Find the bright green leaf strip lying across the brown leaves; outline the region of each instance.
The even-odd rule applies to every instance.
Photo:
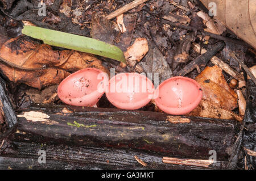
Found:
[[[43,40],[48,45],[97,54],[126,64],[122,50],[104,41],[35,26],[24,26],[22,33],[35,39]]]

